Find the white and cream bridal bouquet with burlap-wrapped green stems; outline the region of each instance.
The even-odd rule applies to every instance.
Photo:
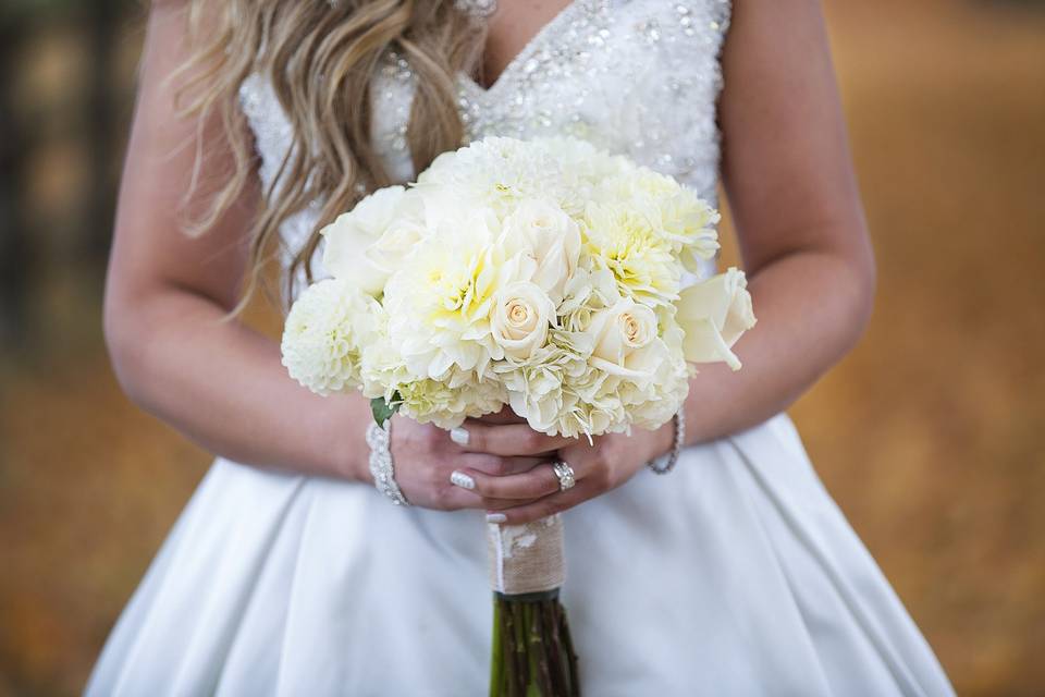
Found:
[[[487,138],[323,230],[332,278],[291,308],[283,364],[319,394],[361,391],[379,423],[448,429],[509,405],[553,436],[655,429],[691,364],[739,369],[732,345],[754,323],[742,272],[684,286],[717,221],[672,178],[583,142]],[[489,527],[491,694],[576,694],[561,519]]]

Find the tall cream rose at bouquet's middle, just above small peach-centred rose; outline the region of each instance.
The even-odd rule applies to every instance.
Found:
[[[524,200],[504,219],[502,244],[525,249],[537,261],[533,282],[553,303],[562,302],[580,257],[580,228],[573,218],[548,201]]]

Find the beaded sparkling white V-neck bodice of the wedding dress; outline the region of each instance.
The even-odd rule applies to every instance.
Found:
[[[467,137],[574,135],[714,199],[718,54],[729,9],[728,0],[574,0],[489,88],[458,76]],[[414,178],[406,144],[414,80],[407,61],[389,54],[373,91],[376,147],[403,181]],[[260,75],[244,82],[241,98],[268,187],[290,147],[291,126]],[[305,243],[317,210],[284,223],[287,248]]]

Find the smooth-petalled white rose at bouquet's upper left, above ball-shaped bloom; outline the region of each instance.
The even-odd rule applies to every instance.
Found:
[[[334,278],[370,295],[381,293],[390,271],[374,264],[366,250],[395,222],[406,193],[402,186],[379,188],[323,228],[323,267]],[[390,241],[385,247],[392,244]]]

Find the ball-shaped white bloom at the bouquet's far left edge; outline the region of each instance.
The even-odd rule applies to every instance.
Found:
[[[283,365],[317,394],[359,386],[360,354],[381,307],[355,285],[327,279],[310,285],[291,307],[283,329]]]

